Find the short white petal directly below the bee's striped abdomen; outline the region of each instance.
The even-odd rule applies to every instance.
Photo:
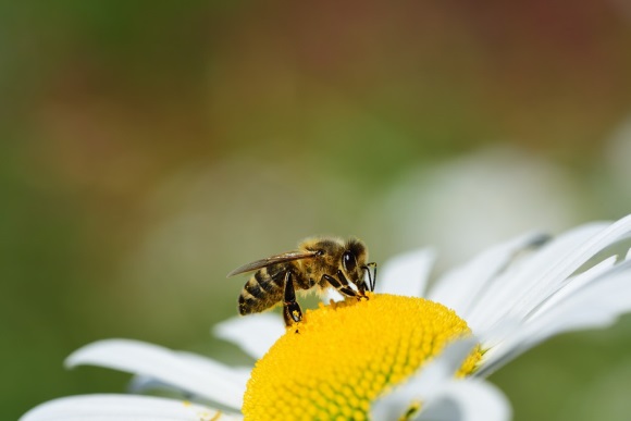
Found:
[[[285,334],[285,323],[276,314],[251,314],[221,322],[214,326],[213,333],[259,359]]]

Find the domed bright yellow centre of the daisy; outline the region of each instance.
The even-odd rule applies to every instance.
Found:
[[[320,305],[257,362],[245,419],[366,420],[376,397],[470,333],[453,310],[423,298],[369,294]],[[471,373],[481,357],[478,347],[458,374]]]

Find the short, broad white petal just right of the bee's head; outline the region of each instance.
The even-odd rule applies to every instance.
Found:
[[[379,268],[375,293],[421,297],[436,253],[419,249],[389,259]]]

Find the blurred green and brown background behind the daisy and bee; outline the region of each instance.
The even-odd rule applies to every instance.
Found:
[[[128,375],[131,337],[212,338],[225,273],[312,234],[436,274],[631,211],[624,0],[0,2],[0,419]],[[626,420],[631,318],[491,380],[516,420]]]

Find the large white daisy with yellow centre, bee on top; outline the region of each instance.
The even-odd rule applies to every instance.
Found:
[[[44,404],[22,421],[506,420],[510,408],[485,376],[550,336],[604,327],[631,310],[631,253],[618,255],[630,235],[631,216],[554,239],[524,235],[432,285],[432,251],[399,256],[380,269],[370,299],[332,299],[297,327],[285,331],[270,313],[218,325],[218,336],[258,359],[253,369],[138,342],[98,342],[66,364],[128,371],[139,376],[137,388],[158,382],[196,404],[89,395]]]

